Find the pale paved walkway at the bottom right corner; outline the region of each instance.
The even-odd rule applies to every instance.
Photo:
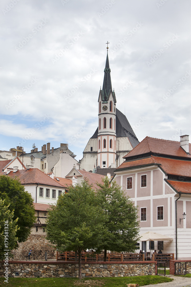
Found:
[[[191,287],[191,277],[168,276],[172,282],[147,285],[148,287]]]

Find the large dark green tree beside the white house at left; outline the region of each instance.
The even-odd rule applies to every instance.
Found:
[[[30,193],[25,191],[19,179],[8,175],[0,176],[0,198],[4,200],[9,210],[13,211],[13,220],[18,218],[16,237],[19,242],[27,240],[35,222],[35,210]]]

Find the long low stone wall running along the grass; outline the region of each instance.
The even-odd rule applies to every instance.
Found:
[[[88,262],[82,264],[82,277],[155,275],[155,265],[155,261]],[[78,277],[76,262],[9,261],[8,267],[9,277]],[[0,277],[4,276],[4,271],[4,261],[0,261]]]

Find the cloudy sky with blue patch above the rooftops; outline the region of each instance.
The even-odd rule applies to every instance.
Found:
[[[82,152],[98,125],[107,45],[137,138],[190,126],[190,0],[1,0],[0,150]]]

